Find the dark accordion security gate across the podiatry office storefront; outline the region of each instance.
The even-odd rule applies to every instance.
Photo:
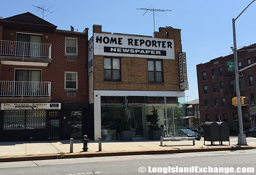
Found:
[[[0,141],[44,141],[60,139],[59,111],[4,110]],[[1,123],[1,122],[0,122]]]

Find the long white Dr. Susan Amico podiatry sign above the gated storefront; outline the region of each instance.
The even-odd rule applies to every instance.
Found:
[[[61,109],[61,103],[1,103],[1,110]]]

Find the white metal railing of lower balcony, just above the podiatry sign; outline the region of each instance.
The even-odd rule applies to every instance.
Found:
[[[51,82],[0,81],[0,97],[50,97]]]

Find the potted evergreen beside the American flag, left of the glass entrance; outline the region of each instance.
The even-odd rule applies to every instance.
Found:
[[[125,110],[120,110],[121,122],[119,123],[120,141],[132,141],[132,131],[125,118]]]

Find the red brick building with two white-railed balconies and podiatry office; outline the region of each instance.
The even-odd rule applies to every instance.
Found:
[[[29,12],[0,18],[0,141],[87,132],[88,28],[56,28]]]

